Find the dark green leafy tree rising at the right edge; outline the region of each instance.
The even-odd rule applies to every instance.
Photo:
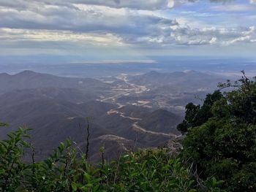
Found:
[[[204,110],[205,117],[198,116],[203,107],[195,112],[200,123],[187,118],[181,151],[181,158],[189,159],[200,177],[225,180],[227,191],[256,191],[256,82],[243,75],[235,83],[219,85],[234,89],[214,97]]]

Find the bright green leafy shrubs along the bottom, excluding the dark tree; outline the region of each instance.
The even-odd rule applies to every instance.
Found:
[[[198,183],[192,166],[165,148],[127,153],[110,163],[102,158],[102,164],[95,165],[67,139],[36,163],[34,147],[24,141],[26,132],[19,128],[0,142],[0,191],[222,191],[222,181],[214,177]],[[28,148],[32,162],[24,164]],[[104,157],[104,147],[100,152]]]

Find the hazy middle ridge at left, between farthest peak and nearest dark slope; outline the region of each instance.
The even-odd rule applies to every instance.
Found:
[[[48,120],[73,119],[97,117],[105,115],[108,110],[115,108],[115,104],[103,103],[100,101],[88,101],[83,104],[75,104],[69,101],[58,99],[38,98],[11,100],[10,102],[2,103],[0,97],[0,121],[9,122],[13,128],[17,128],[23,124],[39,128],[43,126],[38,120],[45,118],[45,123]],[[15,102],[12,102],[15,101]]]

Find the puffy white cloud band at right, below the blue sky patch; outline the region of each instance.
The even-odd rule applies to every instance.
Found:
[[[159,36],[138,37],[140,45],[219,45],[227,46],[238,42],[255,42],[255,27],[249,28],[191,28],[176,25],[168,33]],[[133,42],[133,43],[135,43]]]

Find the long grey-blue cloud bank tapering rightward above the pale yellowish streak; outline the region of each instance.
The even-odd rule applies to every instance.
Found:
[[[149,31],[157,34],[162,28],[175,25],[175,20],[145,15],[138,11],[77,4],[67,7],[41,6],[24,11],[0,8],[1,28],[27,28],[80,33],[143,36]]]

